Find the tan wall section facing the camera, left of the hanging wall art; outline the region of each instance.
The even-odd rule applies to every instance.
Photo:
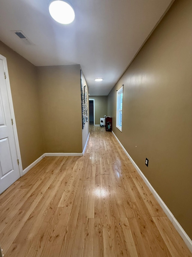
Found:
[[[38,67],[45,152],[82,152],[80,65]]]

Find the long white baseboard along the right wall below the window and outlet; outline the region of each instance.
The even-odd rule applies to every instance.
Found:
[[[158,201],[158,203],[161,205],[161,208],[164,210],[165,214],[167,215],[167,217],[170,219],[171,223],[173,224],[173,226],[176,228],[176,230],[178,231],[179,235],[182,237],[183,241],[186,243],[187,247],[189,248],[189,250],[192,252],[192,240],[189,238],[189,236],[187,235],[187,233],[184,231],[184,229],[182,228],[182,226],[179,224],[179,222],[176,220],[176,218],[174,217],[173,213],[170,211],[170,209],[167,207],[167,205],[164,203],[164,201],[161,199],[161,197],[158,195],[158,193],[155,191],[155,189],[152,187],[152,185],[149,183],[149,180],[145,177],[145,175],[143,174],[143,172],[140,170],[140,168],[137,166],[137,164],[134,162],[134,160],[131,158],[131,156],[128,154],[128,152],[125,150],[124,146],[122,145],[122,143],[119,141],[119,139],[117,138],[117,136],[115,135],[115,133],[112,131],[113,135],[115,136],[115,138],[117,139],[118,143],[120,144],[120,146],[122,147],[123,151],[125,152],[125,154],[128,156],[128,158],[130,159],[130,161],[132,162],[132,164],[134,165],[134,167],[136,168],[137,172],[140,174],[140,176],[142,177],[142,179],[144,180],[144,182],[146,183],[146,185],[149,187],[149,190],[152,192],[153,196],[155,197],[155,199]]]

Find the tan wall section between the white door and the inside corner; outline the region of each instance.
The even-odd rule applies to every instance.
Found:
[[[0,54],[7,58],[22,167],[25,169],[44,153],[37,68],[2,42]]]

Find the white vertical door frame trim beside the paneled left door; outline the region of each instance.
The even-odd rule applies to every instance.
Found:
[[[21,153],[20,153],[20,148],[19,148],[19,139],[18,139],[17,128],[16,128],[15,114],[14,114],[14,109],[13,109],[13,100],[12,100],[12,95],[11,95],[11,87],[10,87],[9,73],[8,73],[8,67],[7,67],[7,58],[4,57],[3,55],[0,55],[0,59],[3,61],[4,70],[5,70],[5,74],[6,74],[5,81],[6,81],[6,86],[7,86],[9,108],[10,108],[11,118],[13,120],[13,126],[12,126],[13,127],[13,136],[14,136],[14,140],[15,140],[16,155],[17,155],[17,159],[19,160],[19,174],[21,177],[23,175],[23,168],[22,168]]]

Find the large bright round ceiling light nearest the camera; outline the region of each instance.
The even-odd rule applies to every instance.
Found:
[[[53,20],[61,24],[70,24],[75,19],[73,8],[66,2],[55,0],[49,5],[49,13]]]

